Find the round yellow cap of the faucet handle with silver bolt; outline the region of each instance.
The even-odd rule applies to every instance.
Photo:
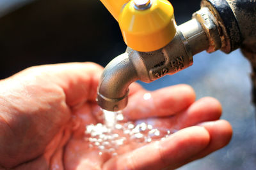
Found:
[[[131,0],[118,22],[126,45],[140,52],[163,48],[176,33],[173,7],[167,0]]]

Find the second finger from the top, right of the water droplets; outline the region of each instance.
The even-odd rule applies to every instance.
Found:
[[[212,97],[204,97],[195,103],[191,104],[187,110],[181,111],[174,117],[163,118],[146,118],[139,120],[146,122],[154,127],[164,128],[168,130],[177,131],[185,127],[199,124],[200,122],[207,122],[218,120],[221,117],[221,104]]]

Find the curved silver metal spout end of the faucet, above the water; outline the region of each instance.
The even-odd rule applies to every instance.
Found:
[[[104,110],[118,111],[128,101],[129,85],[138,80],[128,53],[118,55],[105,67],[99,81],[97,102]]]

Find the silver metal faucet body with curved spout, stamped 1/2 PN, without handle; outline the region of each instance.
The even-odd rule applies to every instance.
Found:
[[[128,87],[136,81],[151,82],[166,74],[174,74],[193,64],[193,55],[208,48],[202,26],[190,20],[179,27],[173,40],[154,52],[138,52],[127,48],[104,69],[98,88],[98,104],[104,110],[125,108]]]

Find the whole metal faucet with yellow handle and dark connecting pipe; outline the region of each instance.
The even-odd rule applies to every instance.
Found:
[[[167,0],[101,1],[118,20],[128,46],[109,62],[100,78],[97,102],[104,110],[124,109],[132,82],[150,83],[177,73],[191,66],[193,55],[204,50],[230,53],[241,48],[256,70],[255,0],[202,0],[200,10],[179,26]],[[152,28],[152,22],[163,27]],[[256,82],[256,76],[252,78]]]

